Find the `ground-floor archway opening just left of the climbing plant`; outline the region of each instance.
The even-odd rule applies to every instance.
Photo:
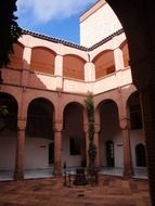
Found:
[[[86,139],[83,132],[82,106],[69,103],[64,110],[63,162],[68,167],[86,165]]]

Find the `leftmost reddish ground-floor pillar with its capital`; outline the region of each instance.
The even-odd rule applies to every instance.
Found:
[[[17,120],[17,138],[16,138],[16,158],[15,158],[15,170],[14,179],[24,179],[24,154],[25,154],[25,129],[26,120],[18,118]]]

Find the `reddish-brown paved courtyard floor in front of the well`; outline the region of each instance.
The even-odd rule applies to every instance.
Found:
[[[94,186],[64,186],[63,178],[3,181],[0,206],[151,206],[151,202],[147,180],[101,175]]]

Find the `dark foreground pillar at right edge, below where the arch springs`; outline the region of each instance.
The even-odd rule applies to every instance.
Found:
[[[155,81],[154,81],[155,82]],[[140,90],[152,204],[155,204],[155,86]]]

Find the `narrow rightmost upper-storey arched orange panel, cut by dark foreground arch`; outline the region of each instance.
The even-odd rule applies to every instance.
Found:
[[[120,44],[120,50],[122,51],[122,57],[124,57],[124,65],[125,68],[129,67],[129,49],[128,49],[128,42],[125,40]]]

